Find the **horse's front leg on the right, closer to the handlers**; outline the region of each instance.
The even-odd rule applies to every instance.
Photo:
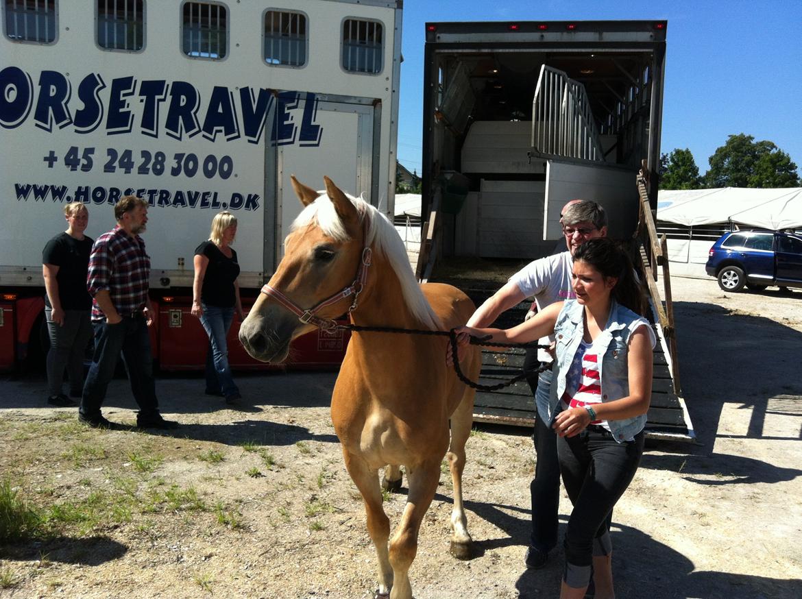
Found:
[[[435,496],[440,478],[440,459],[430,459],[416,467],[407,464],[409,494],[398,529],[390,542],[393,589],[390,599],[411,599],[409,569],[418,552],[418,532],[423,515]]]

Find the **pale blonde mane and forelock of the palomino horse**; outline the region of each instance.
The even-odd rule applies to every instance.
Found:
[[[320,194],[317,200],[314,200],[302,210],[290,230],[299,229],[315,222],[323,233],[334,238],[334,240],[341,243],[348,241],[350,237],[340,217],[334,210],[334,204],[331,203],[325,191],[320,192]],[[404,302],[406,302],[412,315],[423,326],[427,326],[431,330],[442,330],[442,322],[434,310],[431,310],[429,302],[423,296],[420,285],[415,279],[415,273],[412,272],[409,257],[407,257],[407,250],[403,246],[403,241],[401,241],[398,231],[395,230],[395,227],[382,212],[379,212],[377,208],[371,206],[362,198],[350,196],[347,193],[346,197],[357,209],[359,221],[364,223],[365,219],[368,219],[366,243],[371,245],[374,251],[381,253],[390,261],[391,269],[399,277]],[[370,276],[370,273],[368,273],[368,277]]]

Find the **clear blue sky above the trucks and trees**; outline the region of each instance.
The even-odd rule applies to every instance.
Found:
[[[427,21],[652,18],[668,19],[661,152],[688,148],[703,173],[727,136],[746,133],[802,172],[802,0],[406,0],[399,160],[421,173]]]

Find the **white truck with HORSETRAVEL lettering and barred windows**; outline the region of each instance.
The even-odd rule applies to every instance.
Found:
[[[6,0],[0,34],[0,369],[47,347],[42,249],[87,205],[150,204],[144,240],[168,370],[200,369],[192,256],[215,213],[237,217],[245,309],[273,273],[301,204],[290,175],[391,215],[400,0]],[[234,342],[233,366],[259,367]],[[347,336],[298,339],[294,366],[342,361]]]

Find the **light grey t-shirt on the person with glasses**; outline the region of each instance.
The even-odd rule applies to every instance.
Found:
[[[563,302],[574,299],[571,274],[573,273],[573,258],[568,251],[546,256],[540,260],[529,262],[524,268],[509,277],[525,297],[535,297],[537,310],[543,310],[554,302]],[[549,345],[554,341],[554,335],[541,338],[540,345]],[[541,362],[551,362],[552,356],[545,350],[537,350],[537,359]]]

